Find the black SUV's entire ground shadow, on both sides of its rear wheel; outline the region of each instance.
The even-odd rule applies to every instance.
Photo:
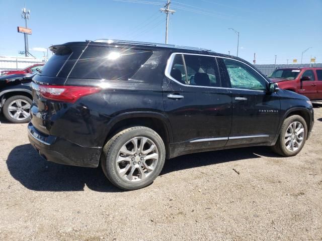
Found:
[[[241,148],[190,154],[167,160],[160,175],[170,172],[261,156],[279,157],[266,147]],[[122,192],[105,177],[101,168],[60,165],[45,161],[30,144],[15,147],[7,159],[10,174],[23,186],[35,191]]]

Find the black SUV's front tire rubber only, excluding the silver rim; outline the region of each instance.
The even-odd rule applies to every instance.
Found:
[[[286,134],[286,130],[287,128],[289,127],[289,125],[293,122],[299,122],[302,124],[302,126],[304,127],[304,138],[303,138],[303,143],[302,145],[300,146],[300,148],[298,148],[296,151],[294,152],[290,152],[289,150],[287,150],[287,148],[285,147],[285,143],[284,143],[284,140],[285,140],[285,134]],[[283,127],[281,129],[281,134],[280,134],[280,137],[279,137],[279,148],[283,154],[283,156],[286,156],[286,157],[291,157],[291,156],[295,156],[297,155],[301,150],[302,148],[304,147],[304,144],[306,142],[306,139],[307,139],[307,125],[306,125],[306,122],[305,120],[303,119],[303,117],[299,116],[299,115],[292,115],[288,118],[285,119],[284,121],[284,124],[283,124]]]

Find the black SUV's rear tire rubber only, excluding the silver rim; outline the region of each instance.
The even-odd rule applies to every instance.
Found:
[[[158,163],[153,173],[146,179],[138,182],[130,182],[122,179],[117,171],[116,158],[121,147],[129,140],[135,137],[147,137],[151,139],[158,150]],[[132,127],[116,134],[104,147],[104,161],[102,162],[102,168],[107,178],[117,187],[125,190],[140,189],[150,185],[153,180],[162,171],[165,163],[166,150],[164,143],[160,136],[153,130],[146,127]]]

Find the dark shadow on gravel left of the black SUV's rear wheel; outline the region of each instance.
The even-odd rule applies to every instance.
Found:
[[[85,186],[98,192],[121,191],[106,179],[101,168],[48,162],[30,144],[15,147],[7,167],[16,180],[35,191],[84,191]]]

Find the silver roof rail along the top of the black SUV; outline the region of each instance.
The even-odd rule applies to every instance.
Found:
[[[114,39],[97,39],[94,42],[107,43],[107,44],[133,44],[133,45],[143,45],[143,46],[153,46],[153,47],[163,47],[163,48],[176,48],[176,49],[187,49],[187,50],[198,50],[198,51],[211,51],[210,49],[202,49],[196,47],[179,46],[171,44],[159,44],[150,42],[139,42],[139,41],[129,41],[129,40],[114,40]]]

